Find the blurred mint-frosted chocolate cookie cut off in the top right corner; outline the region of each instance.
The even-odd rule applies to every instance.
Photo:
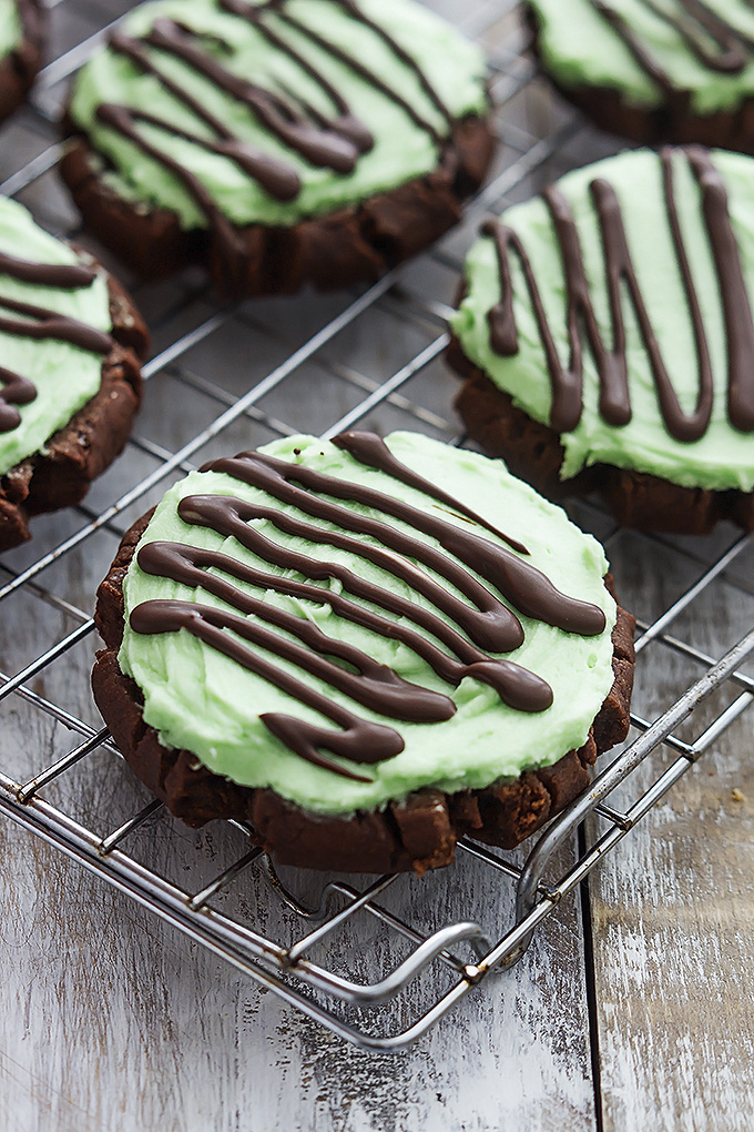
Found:
[[[528,0],[526,11],[544,70],[603,129],[754,153],[747,0]]]

